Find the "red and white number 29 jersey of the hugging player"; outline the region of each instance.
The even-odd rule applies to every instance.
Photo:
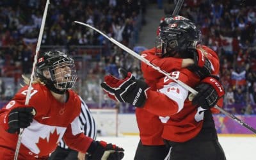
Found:
[[[199,83],[198,76],[188,69],[171,72],[171,75],[191,87]],[[177,142],[195,137],[203,121],[202,119],[201,122],[195,120],[197,108],[186,100],[188,90],[167,77],[159,79],[156,85],[157,91],[147,92],[148,99],[144,109],[160,116],[159,119],[164,126],[161,137]]]

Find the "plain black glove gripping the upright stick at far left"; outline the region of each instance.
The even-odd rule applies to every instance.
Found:
[[[14,108],[8,114],[9,129],[7,132],[19,132],[20,128],[28,127],[33,121],[35,109],[33,107]]]

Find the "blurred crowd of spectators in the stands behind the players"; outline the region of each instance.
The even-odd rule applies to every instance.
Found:
[[[140,52],[143,47],[136,44],[147,24],[147,6],[156,4],[159,9],[170,12],[170,8],[164,8],[161,3],[153,0],[51,0],[40,52],[61,50],[74,57],[79,76],[75,90],[91,108],[112,107],[120,109],[120,113],[132,113],[134,109],[128,104],[109,100],[99,84],[106,74],[118,76],[119,67],[142,78],[140,61],[74,21],[90,24]],[[21,75],[31,74],[44,7],[43,0],[0,2],[1,106],[19,90]],[[203,44],[220,57],[220,77],[227,92],[225,109],[232,114],[255,114],[256,2],[186,0],[180,15],[200,27]],[[152,26],[153,32],[157,25]]]

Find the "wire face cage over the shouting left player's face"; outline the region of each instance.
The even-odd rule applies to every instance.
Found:
[[[52,83],[59,90],[73,88],[76,83],[77,74],[73,60],[63,61],[61,63],[56,62],[56,65],[52,65],[49,68],[49,72],[51,73]]]

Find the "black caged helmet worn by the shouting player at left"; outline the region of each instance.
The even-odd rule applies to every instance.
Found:
[[[44,76],[45,70],[49,71],[50,78]],[[39,54],[35,74],[56,93],[64,93],[65,90],[72,88],[77,79],[74,60],[60,51]]]

